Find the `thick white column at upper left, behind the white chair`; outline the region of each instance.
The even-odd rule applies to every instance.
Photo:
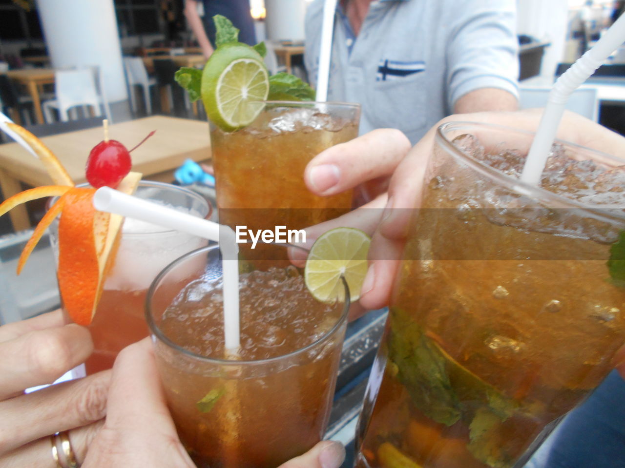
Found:
[[[109,102],[128,100],[113,0],[37,0],[52,66],[100,67]]]

